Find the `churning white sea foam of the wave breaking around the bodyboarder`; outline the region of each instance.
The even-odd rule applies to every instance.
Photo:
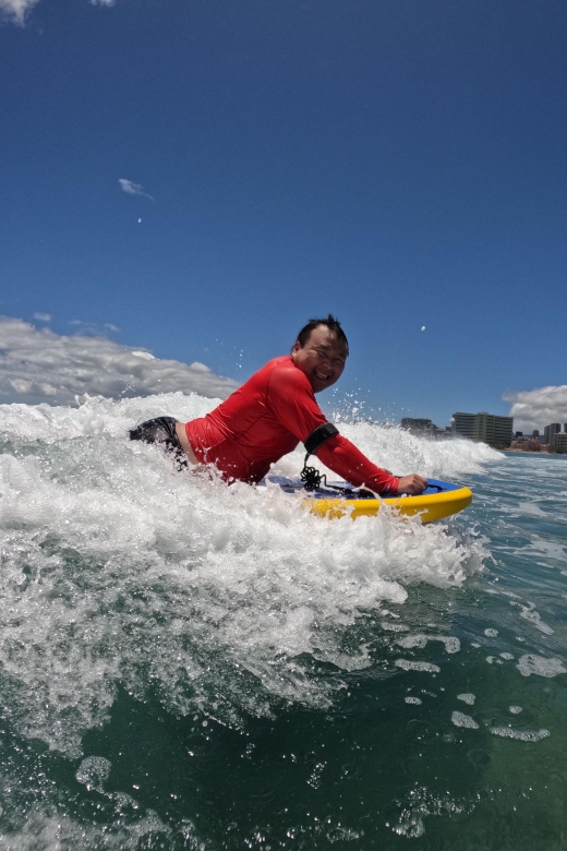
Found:
[[[0,406],[0,666],[22,733],[81,755],[118,684],[227,723],[270,715],[275,700],[325,706],[340,683],[312,675],[305,657],[369,664],[349,643],[361,614],[402,604],[414,583],[459,586],[481,567],[481,544],[443,525],[386,513],[324,520],[276,488],[176,474],[157,447],[125,438],[149,417],[185,420],[213,405],[171,394]],[[450,478],[490,457],[427,444],[431,464],[417,467],[419,442],[406,433],[367,423],[349,433],[400,471]],[[301,464],[298,452],[280,469]]]

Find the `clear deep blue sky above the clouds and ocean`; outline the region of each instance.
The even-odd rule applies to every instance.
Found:
[[[442,425],[566,382],[564,0],[0,8],[3,315],[241,381],[331,311]]]

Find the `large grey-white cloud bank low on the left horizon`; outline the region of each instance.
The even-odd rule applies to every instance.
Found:
[[[106,337],[65,337],[0,316],[0,401],[4,404],[67,404],[84,394],[133,397],[176,391],[226,398],[237,387],[236,381],[215,375],[204,363],[160,360]]]

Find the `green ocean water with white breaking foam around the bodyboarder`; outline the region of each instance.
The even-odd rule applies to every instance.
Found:
[[[213,405],[0,406],[0,849],[566,849],[567,457],[341,422],[474,501],[330,522],[125,439]]]

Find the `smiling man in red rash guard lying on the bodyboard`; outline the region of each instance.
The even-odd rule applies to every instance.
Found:
[[[342,375],[349,344],[330,313],[300,331],[291,355],[275,358],[254,373],[215,410],[190,422],[172,417],[148,420],[131,440],[162,443],[178,464],[213,464],[230,482],[258,482],[270,465],[304,443],[341,479],[382,494],[421,493],[426,479],[398,478],[376,467],[327,422],[315,393]]]

